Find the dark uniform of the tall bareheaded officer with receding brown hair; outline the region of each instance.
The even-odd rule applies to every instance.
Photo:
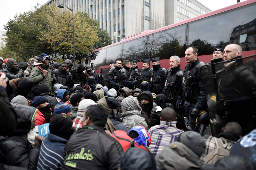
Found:
[[[185,112],[188,118],[188,125],[193,127],[191,112],[200,113],[206,107],[206,101],[203,91],[203,84],[200,77],[200,68],[206,65],[197,58],[192,65],[187,64],[182,76],[182,92],[180,93],[176,104],[180,105],[185,100]]]

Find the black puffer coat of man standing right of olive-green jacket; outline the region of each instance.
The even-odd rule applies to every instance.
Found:
[[[52,74],[56,75],[58,84],[62,84],[63,86],[67,86],[67,84],[72,83],[71,73],[64,72],[61,67],[59,69],[53,70]]]

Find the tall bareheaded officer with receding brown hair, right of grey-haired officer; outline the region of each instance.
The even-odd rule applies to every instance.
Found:
[[[185,112],[188,118],[186,131],[191,131],[193,120],[199,115],[200,111],[206,107],[203,84],[200,78],[200,68],[206,65],[198,59],[198,49],[194,46],[187,48],[185,60],[185,72],[182,77],[182,93],[176,102],[176,108],[180,109],[182,100],[185,100]]]

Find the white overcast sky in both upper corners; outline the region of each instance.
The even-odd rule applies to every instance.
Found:
[[[170,0],[169,0],[170,1]],[[217,10],[237,3],[237,0],[197,0],[211,10]],[[245,1],[245,0],[241,0]],[[7,21],[14,19],[16,13],[29,11],[36,3],[44,4],[47,0],[4,0],[0,7],[0,31],[5,31],[3,26]]]

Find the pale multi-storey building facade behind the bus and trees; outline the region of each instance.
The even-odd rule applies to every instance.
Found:
[[[99,27],[109,33],[112,43],[211,11],[196,0],[48,0],[45,3],[51,4],[86,12],[99,21]]]

